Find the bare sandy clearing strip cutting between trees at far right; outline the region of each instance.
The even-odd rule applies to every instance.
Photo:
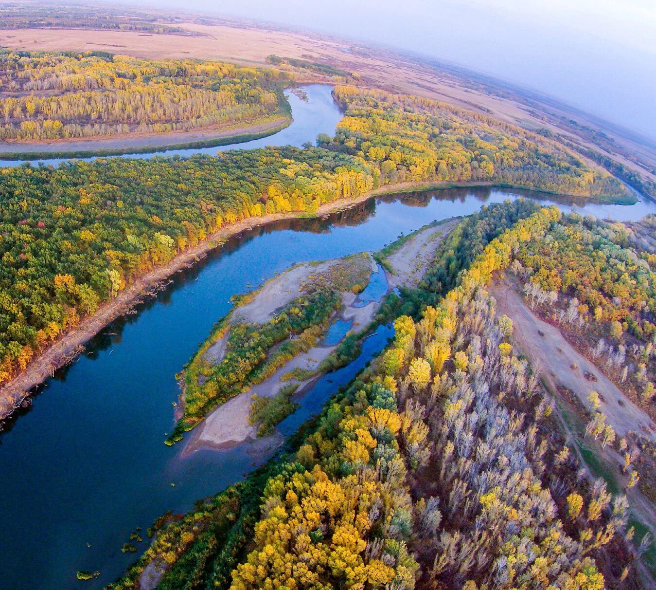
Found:
[[[630,430],[637,430],[651,440],[656,440],[656,426],[649,417],[602,371],[588,359],[581,356],[565,340],[556,327],[538,319],[515,292],[508,279],[501,284],[491,284],[490,294],[497,300],[497,313],[505,313],[514,323],[514,341],[531,358],[552,390],[562,385],[571,390],[579,401],[588,406],[588,395],[598,392],[602,398],[602,411],[615,432],[626,436]],[[572,369],[572,365],[578,365]],[[592,374],[596,381],[586,379],[584,373]]]

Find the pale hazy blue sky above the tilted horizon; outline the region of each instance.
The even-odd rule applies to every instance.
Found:
[[[656,0],[151,0],[377,41],[517,81],[656,139]]]

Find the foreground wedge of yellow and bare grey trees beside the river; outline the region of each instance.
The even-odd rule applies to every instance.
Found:
[[[494,227],[504,214],[518,221]],[[438,302],[397,317],[388,348],[283,460],[158,520],[110,588],[138,587],[151,562],[163,589],[636,587],[626,497],[571,452],[485,290],[561,222],[522,202],[462,221],[460,235],[497,236],[480,233],[471,263],[455,256],[462,238],[441,246],[436,266],[451,258],[453,286],[420,286]]]

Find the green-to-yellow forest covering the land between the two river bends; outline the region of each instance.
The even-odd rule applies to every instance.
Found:
[[[606,173],[522,129],[417,97],[335,93],[346,116],[319,147],[3,168],[0,384],[137,277],[248,217],[316,214],[338,199],[441,181],[628,198]]]

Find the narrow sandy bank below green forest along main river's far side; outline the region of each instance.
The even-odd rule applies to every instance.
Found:
[[[326,217],[330,214],[346,210],[365,202],[371,198],[384,196],[386,194],[396,193],[411,193],[414,191],[438,191],[453,188],[475,188],[475,187],[499,187],[499,188],[514,188],[533,191],[526,187],[509,187],[508,185],[500,183],[436,183],[427,181],[425,183],[400,183],[398,185],[384,185],[373,191],[369,191],[361,196],[340,199],[331,203],[325,203],[319,207],[316,214],[311,217]],[[544,191],[533,191],[543,192]],[[545,193],[550,194],[550,193]],[[561,194],[561,193],[558,193]],[[574,196],[576,195],[562,195]],[[585,198],[585,197],[580,197]],[[259,225],[268,225],[275,221],[282,221],[285,219],[302,219],[308,217],[303,212],[287,212],[276,213],[268,216],[249,217],[236,223],[220,229],[216,233],[207,237],[206,240],[180,252],[174,258],[156,269],[142,275],[127,286],[124,290],[112,300],[105,302],[98,310],[91,316],[84,317],[82,321],[72,330],[63,334],[58,340],[52,342],[50,346],[45,348],[43,352],[35,357],[25,371],[14,376],[7,384],[0,387],[0,432],[1,422],[9,419],[11,415],[19,409],[24,403],[31,403],[31,390],[36,386],[42,384],[49,376],[51,376],[56,369],[60,369],[70,363],[75,356],[73,355],[80,346],[83,346],[93,336],[95,336],[106,325],[115,319],[125,315],[133,307],[140,303],[144,296],[147,296],[150,291],[157,288],[163,281],[166,281],[174,273],[185,269],[195,262],[201,260],[207,252],[214,250],[220,246],[222,240],[233,237],[243,231],[249,231],[253,227]]]

